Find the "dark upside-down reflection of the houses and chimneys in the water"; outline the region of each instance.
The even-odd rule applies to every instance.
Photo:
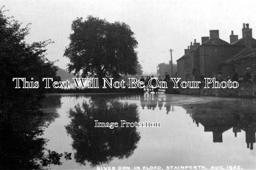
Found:
[[[251,103],[228,104],[217,102],[202,105],[191,105],[183,107],[193,119],[193,123],[204,126],[205,132],[213,133],[213,142],[222,142],[222,134],[231,129],[234,136],[243,130],[247,148],[253,149],[256,143],[256,106]]]

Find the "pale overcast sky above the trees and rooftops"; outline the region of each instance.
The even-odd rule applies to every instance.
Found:
[[[76,17],[93,15],[108,22],[130,25],[138,41],[138,59],[145,72],[156,72],[159,63],[183,56],[190,42],[201,43],[209,30],[219,30],[229,42],[231,30],[242,36],[243,23],[256,31],[256,0],[0,0],[9,16],[30,25],[26,42],[51,39],[49,60],[66,68],[63,57],[69,44],[71,23]],[[256,37],[256,36],[255,36]]]

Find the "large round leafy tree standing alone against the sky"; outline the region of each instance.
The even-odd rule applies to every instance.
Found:
[[[70,59],[69,72],[99,78],[136,74],[138,43],[129,25],[88,16],[74,20],[72,31],[64,53]]]

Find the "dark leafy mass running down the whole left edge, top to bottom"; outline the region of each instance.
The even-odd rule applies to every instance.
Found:
[[[57,115],[39,110],[46,92],[43,86],[15,89],[12,78],[59,79],[58,68],[45,57],[51,41],[26,44],[28,25],[21,28],[4,12],[0,8],[0,169],[40,169],[37,160],[42,159],[47,139],[38,136]]]

